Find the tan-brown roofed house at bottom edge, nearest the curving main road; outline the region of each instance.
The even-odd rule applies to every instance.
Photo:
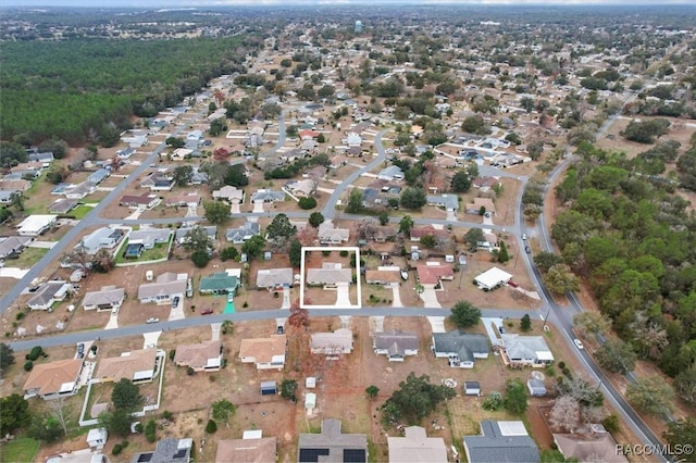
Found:
[[[589,424],[573,434],[554,434],[554,443],[567,459],[581,463],[625,463],[629,460],[617,452],[617,441],[600,424]]]

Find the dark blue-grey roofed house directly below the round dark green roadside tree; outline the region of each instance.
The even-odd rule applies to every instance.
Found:
[[[487,359],[490,348],[484,335],[455,329],[433,333],[433,352],[436,359],[448,359],[449,366],[473,368],[476,359]]]

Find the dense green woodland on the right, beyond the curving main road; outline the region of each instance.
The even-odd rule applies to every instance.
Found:
[[[672,377],[693,372],[696,216],[688,201],[673,182],[642,174],[641,159],[589,143],[577,154],[556,189],[568,207],[552,226],[564,263],[591,283],[600,310],[641,358]],[[696,136],[684,157],[694,154]]]

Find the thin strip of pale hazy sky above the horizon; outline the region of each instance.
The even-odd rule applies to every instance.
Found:
[[[187,8],[328,4],[694,4],[693,0],[0,0],[2,7]]]

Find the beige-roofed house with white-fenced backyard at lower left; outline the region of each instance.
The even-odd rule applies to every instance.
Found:
[[[101,359],[94,377],[101,383],[119,383],[123,378],[133,383],[148,383],[154,379],[157,363],[157,349],[123,352],[120,356]]]

